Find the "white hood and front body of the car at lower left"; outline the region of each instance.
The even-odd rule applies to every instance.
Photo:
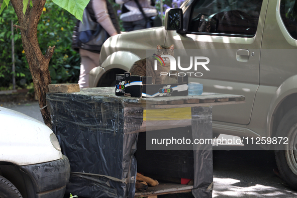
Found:
[[[40,121],[0,107],[0,161],[29,165],[61,159],[50,142],[52,133]]]

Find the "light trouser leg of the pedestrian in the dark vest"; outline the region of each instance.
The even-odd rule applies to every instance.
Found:
[[[100,54],[93,53],[87,50],[80,49],[80,74],[78,84],[80,88],[89,87],[89,73],[90,71],[99,66]]]

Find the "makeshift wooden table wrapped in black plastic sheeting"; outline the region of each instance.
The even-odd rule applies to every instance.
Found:
[[[114,87],[47,93],[46,99],[52,129],[70,162],[66,194],[78,197],[134,197],[134,153],[139,132],[191,126],[193,138],[212,138],[212,106],[245,102],[241,95],[217,93],[163,98],[116,96]],[[155,119],[149,124],[148,110],[171,108],[190,108],[191,115],[180,122]],[[211,147],[193,147],[195,197],[212,197]]]

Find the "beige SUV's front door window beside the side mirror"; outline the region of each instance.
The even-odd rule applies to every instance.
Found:
[[[198,0],[191,9],[188,33],[252,37],[262,0]]]

